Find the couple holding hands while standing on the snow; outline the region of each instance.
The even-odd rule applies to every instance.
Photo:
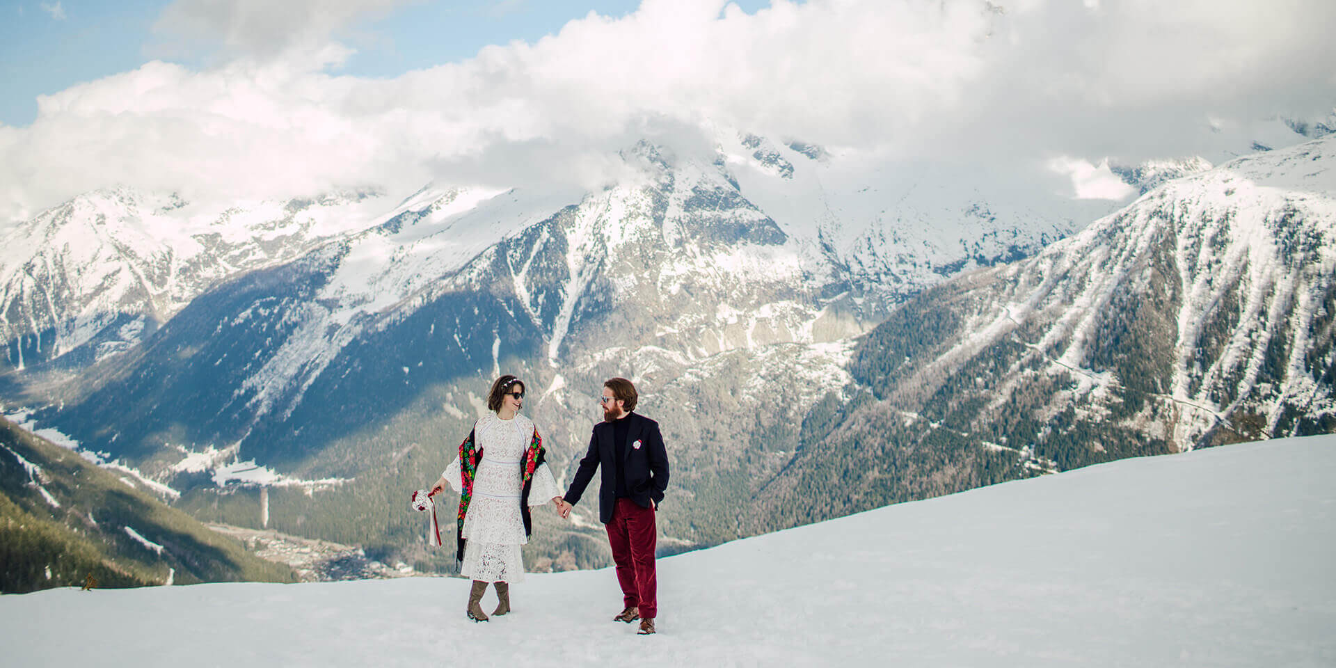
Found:
[[[488,621],[480,605],[488,582],[496,585],[493,616],[510,612],[510,582],[524,580],[520,545],[529,542],[529,508],[556,505],[561,517],[580,502],[596,469],[603,468],[599,518],[608,530],[623,611],[615,621],[640,620],[640,633],[655,632],[655,512],[668,486],[668,453],[659,424],[635,413],[636,386],[625,378],[603,383],[603,422],[595,425],[570,489],[561,494],[545,462],[546,450],[533,421],[521,415],[525,385],[514,375],[492,383],[488,409],[460,444],[460,456],[432,486],[460,494],[456,522],[460,573],[473,578],[468,615]]]

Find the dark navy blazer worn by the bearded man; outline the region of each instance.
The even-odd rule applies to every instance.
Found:
[[[576,505],[584,490],[593,480],[593,470],[603,465],[603,478],[599,485],[599,520],[603,524],[612,521],[612,509],[616,506],[615,494],[617,492],[617,454],[613,448],[621,448],[623,474],[625,477],[627,493],[640,508],[651,508],[664,500],[664,490],[668,489],[668,450],[664,449],[664,437],[659,433],[659,422],[639,413],[631,413],[621,420],[631,421],[627,425],[627,442],[615,444],[612,422],[599,422],[589,436],[589,452],[580,460],[580,469],[570,481],[565,500]]]

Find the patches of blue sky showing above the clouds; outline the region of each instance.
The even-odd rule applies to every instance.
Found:
[[[152,31],[168,0],[4,3],[0,9],[0,123],[28,126],[37,95],[126,72],[162,59],[202,65],[208,52],[182,53]],[[362,21],[341,37],[357,49],[338,72],[395,76],[472,57],[488,44],[536,41],[591,11],[633,12],[640,0],[482,0],[417,3]],[[768,0],[735,0],[748,13]],[[59,8],[59,9],[57,9]]]

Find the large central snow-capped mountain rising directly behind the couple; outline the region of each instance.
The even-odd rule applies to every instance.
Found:
[[[1113,202],[1041,196],[985,170],[896,164],[736,132],[704,152],[640,143],[620,158],[629,176],[592,192],[428,186],[290,262],[215,283],[110,363],[17,399],[45,403],[32,413],[40,426],[183,490],[180,505],[198,517],[246,524],[236,516],[253,501],[230,488],[208,492],[238,469],[262,470],[253,484],[335,481],[337,492],[299,485],[267,497],[271,525],[383,549],[417,528],[367,509],[434,477],[484,410],[490,378],[506,371],[529,383],[525,410],[558,477],[597,420],[601,382],[636,381],[641,411],[661,421],[681,472],[675,486],[692,501],[689,512],[669,504],[660,516],[664,542],[679,546],[1174,449],[1168,437],[1110,440],[1094,458],[1066,458],[1030,442],[1054,414],[1029,405],[990,428],[985,445],[961,415],[1006,411],[943,394],[966,382],[943,385],[950,374],[937,369],[946,367],[903,378],[899,394],[887,389],[900,382],[887,361],[929,365],[947,351],[933,345],[975,326],[929,306],[962,294],[991,303],[995,295],[971,286],[1003,274],[925,289],[1034,255]],[[1141,166],[1134,182],[1162,184],[1137,206],[1200,199],[1206,175],[1233,168],[1165,182],[1205,167]],[[1117,227],[1109,220],[1097,228]],[[1067,251],[1071,262],[1121,253],[1110,250],[1121,238],[1090,234]],[[1014,266],[1035,266],[1026,262]],[[1101,303],[1100,313],[1140,313],[1133,302]],[[887,315],[882,334],[859,342]],[[888,327],[902,327],[903,341],[886,345]],[[886,407],[906,393],[912,402]],[[1073,411],[1100,397],[1063,395],[1074,397]],[[919,422],[946,409],[965,413],[949,429],[939,418]],[[1062,438],[1074,438],[1062,425]],[[875,461],[886,448],[903,450],[900,464]],[[852,458],[823,457],[831,452]],[[816,492],[846,477],[858,489],[812,514]],[[811,502],[788,502],[795,496]],[[596,533],[553,529],[536,549],[603,564],[603,548],[588,541]]]

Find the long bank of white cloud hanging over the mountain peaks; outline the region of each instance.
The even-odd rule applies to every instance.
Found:
[[[219,198],[433,176],[596,184],[641,136],[708,146],[701,128],[719,126],[998,171],[1054,155],[1094,168],[1206,151],[1208,118],[1336,100],[1325,0],[778,0],[755,15],[645,0],[395,79],[325,71],[350,53],[339,31],[395,4],[172,4],[160,33],[227,59],[39,98],[31,127],[0,127],[0,220],[111,180]]]

